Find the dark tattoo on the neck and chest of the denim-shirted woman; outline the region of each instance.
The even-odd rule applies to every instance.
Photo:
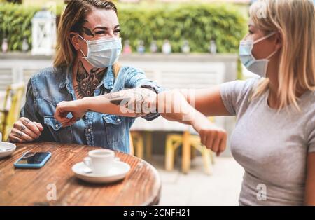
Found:
[[[81,61],[78,63],[78,70],[76,73],[76,81],[78,85],[74,87],[78,98],[94,96],[94,90],[101,83],[106,69],[99,71],[99,68],[91,69],[90,73],[83,67]]]

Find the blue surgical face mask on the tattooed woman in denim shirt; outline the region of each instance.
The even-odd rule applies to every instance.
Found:
[[[80,38],[83,39],[82,36]],[[123,48],[121,38],[83,40],[87,43],[87,55],[84,55],[81,49],[80,51],[85,56],[83,58],[90,62],[93,67],[105,68],[112,66],[118,60]]]

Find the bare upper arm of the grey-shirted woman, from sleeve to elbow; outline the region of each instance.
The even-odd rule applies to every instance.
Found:
[[[197,90],[180,90],[187,101],[205,116],[230,116],[225,108],[220,85]]]

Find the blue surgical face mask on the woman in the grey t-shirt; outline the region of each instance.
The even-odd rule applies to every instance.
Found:
[[[274,34],[276,34],[276,32],[272,32],[257,41],[246,40],[239,43],[239,59],[248,71],[258,74],[261,77],[266,77],[269,58],[272,57],[278,50],[274,51],[267,58],[261,60],[255,59],[252,50],[255,43],[263,41]]]

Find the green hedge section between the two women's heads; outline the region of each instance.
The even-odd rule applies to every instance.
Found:
[[[246,30],[246,19],[232,5],[185,4],[119,10],[123,38],[130,39],[133,48],[137,39],[144,40],[147,49],[153,39],[159,47],[164,39],[169,39],[174,52],[179,52],[187,39],[192,52],[208,52],[209,41],[215,39],[219,53],[235,53]]]

